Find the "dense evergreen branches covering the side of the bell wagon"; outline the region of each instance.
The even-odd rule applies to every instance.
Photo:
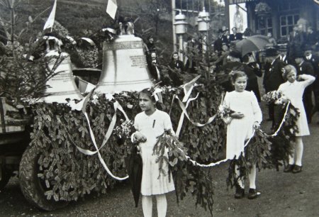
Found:
[[[173,126],[177,128],[181,109],[177,103],[172,104],[172,99],[175,94],[181,98],[184,93],[180,88],[163,87],[162,89],[164,102],[160,105],[160,109],[171,111]],[[218,91],[213,86],[212,89]],[[212,89],[204,89],[201,86],[194,89],[194,94],[201,91],[198,99],[192,101],[187,109],[194,121],[203,123],[207,121],[208,116],[212,116],[217,111],[220,94],[211,94]],[[133,120],[135,115],[140,112],[137,92],[115,94],[114,99],[123,106],[130,120]],[[107,126],[111,123],[114,114],[113,102],[108,101],[104,95],[91,96],[86,106],[86,112],[89,115],[91,128],[98,145],[102,143]],[[65,104],[45,103],[33,104],[31,110],[34,119],[30,145],[36,145],[42,150],[38,160],[40,165],[38,177],[43,180],[48,199],[53,197],[57,201],[77,200],[91,191],[106,193],[107,188],[116,184],[116,180],[106,173],[96,155],[84,155],[75,147],[78,145],[80,148],[95,150],[91,143],[88,124],[81,112],[71,111],[69,106]],[[118,117],[116,126],[122,128],[123,131],[121,125],[125,117],[121,112],[118,112],[116,116]],[[198,162],[207,163],[218,159],[220,151],[223,150],[221,148],[223,145],[222,136],[225,135],[223,127],[223,122],[216,121],[198,128],[185,119],[181,130],[181,143],[185,144],[183,150]],[[214,138],[207,135],[213,135]],[[169,159],[162,158],[161,161],[167,161],[171,165],[170,172],[174,177],[178,198],[184,199],[186,192],[191,191],[196,196],[196,204],[204,208],[208,207],[212,211],[213,184],[209,169],[194,169],[194,165],[186,161],[180,150],[172,148],[173,143],[170,142],[170,138],[172,137],[169,135],[165,143],[161,142],[161,144],[171,148]],[[174,144],[181,144],[177,138],[174,138],[173,141]],[[124,159],[130,151],[130,145],[132,144],[128,137],[119,138],[115,131],[108,143],[100,150],[106,165],[118,177],[124,177],[126,174]],[[159,164],[161,163],[159,162]]]

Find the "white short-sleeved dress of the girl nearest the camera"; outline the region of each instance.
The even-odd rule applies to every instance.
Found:
[[[168,175],[168,164],[164,162],[165,174],[159,176],[159,164],[156,162],[158,155],[153,155],[153,148],[157,137],[164,133],[164,130],[172,130],[172,122],[169,115],[164,111],[155,110],[152,115],[147,116],[145,112],[138,113],[134,121],[135,129],[146,136],[145,143],[140,143],[140,155],[142,156],[142,195],[165,194],[174,191],[172,174]],[[164,154],[167,156],[167,151]]]

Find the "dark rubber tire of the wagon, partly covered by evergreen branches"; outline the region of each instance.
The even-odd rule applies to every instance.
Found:
[[[68,201],[47,200],[47,196],[45,196],[45,189],[43,189],[41,180],[38,177],[38,159],[40,154],[40,151],[35,146],[29,146],[23,153],[18,173],[21,191],[30,204],[42,210],[52,211],[65,207],[69,204]]]

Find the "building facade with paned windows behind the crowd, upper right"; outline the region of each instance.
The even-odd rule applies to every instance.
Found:
[[[312,26],[319,30],[319,4],[314,0],[225,0],[225,15],[230,23],[229,9],[232,5],[245,4],[247,27],[254,33],[285,39],[293,26]],[[231,28],[231,26],[228,26]]]

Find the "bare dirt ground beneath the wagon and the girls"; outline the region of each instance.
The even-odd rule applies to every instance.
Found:
[[[264,105],[262,106],[264,108]],[[263,109],[264,111],[265,109]],[[265,111],[264,111],[265,112]],[[264,119],[267,115],[264,116]],[[303,172],[284,173],[266,169],[257,173],[257,189],[261,192],[254,200],[234,199],[233,189],[228,190],[225,179],[228,163],[211,168],[214,174],[215,196],[213,214],[225,216],[319,216],[319,114],[316,113],[310,124],[310,136],[303,139]],[[262,128],[269,129],[269,122]],[[247,192],[248,189],[246,189]],[[208,211],[194,205],[191,196],[177,204],[174,192],[167,194],[167,216],[210,216]],[[154,203],[155,204],[155,203]],[[0,192],[0,216],[142,216],[142,207],[135,208],[128,183],[121,183],[108,194],[91,194],[74,201],[57,211],[39,211],[24,199],[13,177],[4,191]],[[156,205],[153,206],[156,215]]]

